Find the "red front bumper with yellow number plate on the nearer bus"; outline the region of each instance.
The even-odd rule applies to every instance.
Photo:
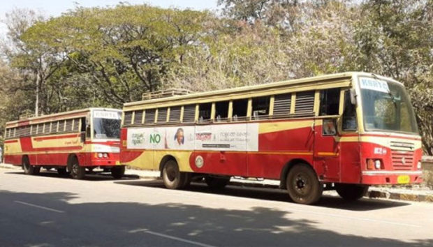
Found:
[[[423,171],[362,171],[361,184],[420,184]]]

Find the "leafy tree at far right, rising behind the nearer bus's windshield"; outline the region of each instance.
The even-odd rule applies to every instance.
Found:
[[[353,67],[405,84],[425,153],[433,155],[433,1],[371,0],[361,7]]]

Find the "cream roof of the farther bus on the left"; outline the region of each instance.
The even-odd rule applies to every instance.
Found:
[[[68,111],[68,112],[59,112],[59,113],[54,113],[54,114],[42,115],[42,116],[38,116],[38,117],[29,117],[26,119],[8,121],[8,122],[6,122],[6,128],[7,127],[16,127],[16,126],[27,125],[28,123],[32,123],[32,122],[54,121],[54,120],[59,120],[59,119],[85,117],[87,112],[90,112],[91,110],[109,110],[109,111],[122,112],[122,110],[114,109],[114,108],[89,107],[89,108],[80,109],[80,110],[72,110],[72,111]]]

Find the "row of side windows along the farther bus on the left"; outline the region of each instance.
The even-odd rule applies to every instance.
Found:
[[[84,119],[84,118],[82,118]],[[84,121],[84,120],[82,120]],[[83,123],[84,124],[84,123]],[[6,128],[6,139],[27,137],[34,135],[50,135],[78,132],[80,130],[80,119],[65,119],[45,123],[34,123],[27,126]]]

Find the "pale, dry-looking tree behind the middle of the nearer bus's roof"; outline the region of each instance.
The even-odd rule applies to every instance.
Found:
[[[212,32],[203,43],[164,77],[167,87],[209,91],[288,77],[288,57],[278,30],[260,22],[218,20],[209,25]]]

